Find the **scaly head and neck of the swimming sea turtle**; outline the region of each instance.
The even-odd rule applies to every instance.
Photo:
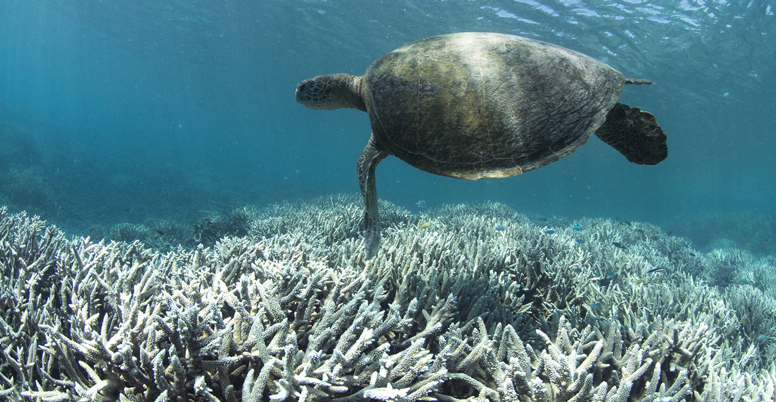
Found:
[[[318,110],[366,110],[361,97],[361,77],[351,74],[326,74],[307,78],[296,85],[296,101]]]

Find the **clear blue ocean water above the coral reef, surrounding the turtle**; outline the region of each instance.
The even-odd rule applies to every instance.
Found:
[[[471,182],[390,157],[377,170],[379,198],[669,224],[773,211],[774,12],[757,0],[5,0],[0,204],[78,232],[357,193],[367,116],[304,108],[297,82],[362,74],[426,36],[489,31],[654,81],[621,101],[656,116],[667,160],[636,166],[591,138],[542,169]]]

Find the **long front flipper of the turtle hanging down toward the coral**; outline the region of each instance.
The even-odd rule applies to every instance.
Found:
[[[369,138],[359,156],[359,187],[364,197],[364,249],[366,259],[372,259],[380,246],[380,216],[377,211],[375,168],[388,153],[379,149],[373,137]]]

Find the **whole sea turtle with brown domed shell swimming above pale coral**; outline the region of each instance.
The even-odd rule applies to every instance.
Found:
[[[511,177],[559,160],[595,133],[633,163],[660,163],[663,129],[650,113],[617,102],[625,84],[652,82],[539,40],[452,33],[401,46],[362,77],[304,80],[296,101],[369,113],[358,172],[371,259],[379,248],[375,167],[389,155],[441,176]]]

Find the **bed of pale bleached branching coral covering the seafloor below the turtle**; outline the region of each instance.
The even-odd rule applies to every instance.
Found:
[[[167,253],[0,208],[0,396],[774,400],[773,294],[699,279],[715,256],[656,226],[383,203],[365,262],[358,200]]]

